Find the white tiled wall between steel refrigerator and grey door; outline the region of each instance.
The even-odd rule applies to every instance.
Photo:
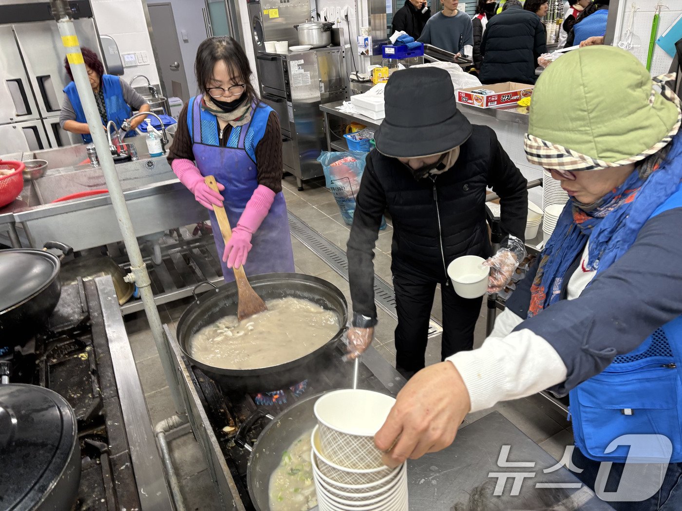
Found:
[[[110,35],[123,53],[147,52],[147,63],[125,67],[123,78],[130,79],[143,74],[152,83],[159,82],[147,21],[142,7],[143,0],[91,0],[100,35]],[[142,80],[140,83],[142,84]],[[138,85],[135,82],[134,85]]]

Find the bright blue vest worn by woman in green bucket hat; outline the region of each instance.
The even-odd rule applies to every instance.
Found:
[[[651,217],[679,207],[682,185]],[[606,454],[611,442],[622,435],[657,434],[672,443],[670,462],[682,462],[681,343],[679,316],[658,328],[636,350],[617,356],[602,373],[569,392],[576,446],[585,456],[623,463],[629,446]],[[652,456],[659,454],[660,448],[660,444],[649,444]]]

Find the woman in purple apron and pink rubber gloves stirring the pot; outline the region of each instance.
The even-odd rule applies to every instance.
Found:
[[[246,54],[232,37],[201,43],[194,72],[202,94],[192,97],[180,113],[168,162],[210,210],[223,276],[233,281],[230,268],[242,265],[248,275],[292,273],[277,114],[256,95]],[[204,177],[209,175],[216,177],[222,193],[206,185]],[[224,206],[230,220],[227,246],[213,206]]]

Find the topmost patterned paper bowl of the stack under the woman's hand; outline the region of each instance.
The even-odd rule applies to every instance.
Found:
[[[325,460],[349,469],[382,467],[374,434],[395,403],[395,398],[372,390],[348,388],[324,394],[316,401],[314,414]]]

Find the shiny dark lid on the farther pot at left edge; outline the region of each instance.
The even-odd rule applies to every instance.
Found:
[[[59,273],[59,258],[36,249],[0,250],[0,312],[44,290]]]

